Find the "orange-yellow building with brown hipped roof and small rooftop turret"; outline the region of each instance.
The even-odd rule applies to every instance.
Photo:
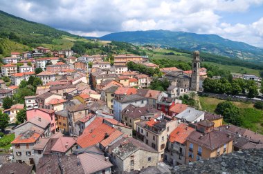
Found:
[[[197,131],[186,139],[185,164],[232,152],[234,136],[214,125],[209,120],[197,123]]]

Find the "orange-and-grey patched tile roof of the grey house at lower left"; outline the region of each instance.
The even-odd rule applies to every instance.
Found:
[[[21,133],[16,139],[14,139],[11,144],[24,144],[24,143],[34,143],[40,137],[39,133],[28,130]]]

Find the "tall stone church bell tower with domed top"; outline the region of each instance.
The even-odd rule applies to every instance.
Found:
[[[199,90],[199,70],[200,70],[200,53],[198,50],[194,51],[194,59],[192,59],[192,78],[191,90]]]

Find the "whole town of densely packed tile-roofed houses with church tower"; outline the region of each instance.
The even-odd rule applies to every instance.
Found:
[[[192,70],[161,68],[131,53],[113,58],[44,47],[4,57],[1,138],[15,137],[0,144],[11,144],[1,150],[0,171],[170,173],[176,166],[263,148],[263,135],[198,104],[203,92],[253,99],[260,77],[235,74],[233,79],[255,88],[220,92],[212,84],[227,83],[208,77],[199,51],[193,52]]]

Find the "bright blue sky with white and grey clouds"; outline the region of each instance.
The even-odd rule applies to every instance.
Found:
[[[1,0],[0,10],[82,36],[163,29],[263,48],[263,0]]]

